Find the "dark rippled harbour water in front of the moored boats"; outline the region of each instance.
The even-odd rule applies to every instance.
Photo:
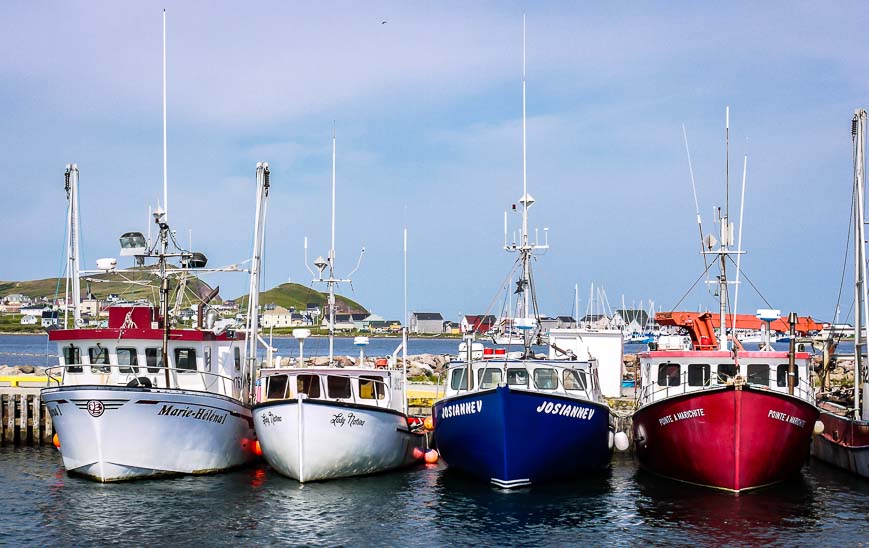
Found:
[[[504,492],[426,465],[299,483],[267,465],[97,484],[67,476],[53,447],[0,448],[11,545],[854,546],[869,539],[869,482],[820,462],[741,495],[637,471],[618,456],[589,481]]]

